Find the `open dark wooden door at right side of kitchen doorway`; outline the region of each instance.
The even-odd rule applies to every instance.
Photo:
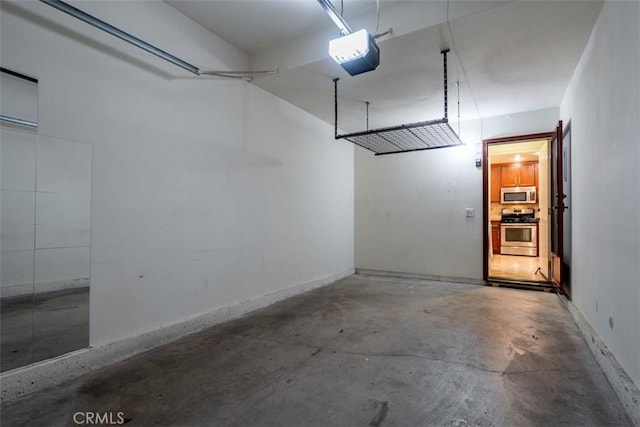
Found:
[[[551,282],[565,292],[563,281],[564,211],[562,120],[551,138]]]

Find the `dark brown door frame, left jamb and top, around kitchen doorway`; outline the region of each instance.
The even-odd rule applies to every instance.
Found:
[[[489,281],[489,145],[506,142],[524,142],[532,139],[551,140],[555,136],[555,131],[529,133],[524,135],[506,136],[502,138],[489,138],[482,140],[482,280]]]

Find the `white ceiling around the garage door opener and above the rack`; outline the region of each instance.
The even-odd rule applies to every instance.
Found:
[[[381,0],[380,67],[351,77],[328,58],[338,31],[317,0],[166,0],[244,50],[253,83],[333,123],[339,77],[344,131],[443,116],[440,50],[449,54],[449,118],[462,120],[557,107],[602,6],[596,0]],[[340,10],[340,1],[334,0]],[[344,0],[352,29],[376,30],[375,0]],[[452,37],[453,36],[453,37]],[[464,66],[464,67],[463,67]],[[550,124],[553,126],[553,124]]]

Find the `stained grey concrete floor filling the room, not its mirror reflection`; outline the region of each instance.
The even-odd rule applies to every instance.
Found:
[[[55,389],[3,426],[632,425],[554,294],[352,276]]]

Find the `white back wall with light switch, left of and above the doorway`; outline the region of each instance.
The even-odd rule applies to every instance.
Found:
[[[466,147],[356,149],[356,268],[482,280],[482,140],[548,132],[557,120],[551,108],[462,122]]]

